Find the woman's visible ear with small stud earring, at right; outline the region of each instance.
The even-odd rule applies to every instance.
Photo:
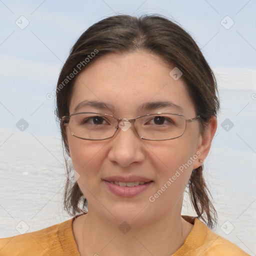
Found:
[[[217,118],[215,116],[212,116],[207,126],[205,127],[204,134],[200,135],[198,138],[197,148],[196,148],[196,154],[198,155],[198,158],[193,163],[193,169],[202,165],[202,162],[208,155],[211,141],[216,132],[216,129],[217,129]],[[199,160],[201,160],[202,162],[200,162]]]

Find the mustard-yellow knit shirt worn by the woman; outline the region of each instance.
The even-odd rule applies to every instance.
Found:
[[[193,227],[172,256],[249,255],[212,232],[199,219],[184,215],[182,217],[192,223]],[[72,232],[73,220],[74,217],[38,231],[0,238],[0,256],[80,256]]]

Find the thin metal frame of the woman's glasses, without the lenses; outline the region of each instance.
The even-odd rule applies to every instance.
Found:
[[[99,112],[75,112],[75,113],[72,113],[72,114],[70,114],[70,115],[68,115],[68,116],[62,116],[62,117],[61,117],[61,125],[64,126],[64,125],[68,124],[71,116],[76,115],[76,114],[82,114],[82,113],[93,113],[93,114],[106,115],[106,116],[110,116],[110,117],[115,118],[115,119],[117,120],[117,125],[115,126],[115,132],[114,132],[114,134],[117,132],[117,130],[118,130],[118,128],[119,128],[119,123],[120,123],[121,121],[128,121],[128,122],[130,122],[131,124],[134,124],[134,122],[135,122],[136,119],[138,119],[138,118],[140,118],[140,117],[143,117],[143,116],[154,115],[154,114],[174,114],[174,115],[182,116],[182,117],[184,117],[184,119],[185,119],[185,116],[182,115],[182,114],[178,114],[178,113],[166,113],[166,112],[157,112],[157,113],[143,114],[143,115],[137,116],[137,117],[135,117],[135,118],[130,118],[130,119],[127,119],[127,118],[117,118],[117,117],[115,117],[114,115],[111,115],[111,114],[103,114],[103,113],[99,113]],[[198,114],[197,116],[195,116],[195,117],[193,117],[193,118],[185,119],[185,121],[186,121],[186,122],[187,122],[187,121],[193,122],[194,120],[198,119],[199,117],[200,117],[200,115]],[[178,137],[180,137],[180,136],[182,136],[182,135],[184,134],[184,132],[185,132],[185,130],[186,130],[186,122],[185,122],[184,131],[182,132],[182,134],[181,134],[181,135],[178,135],[178,136],[176,136],[176,137],[173,137],[173,138],[163,138],[163,139],[162,139],[162,138],[161,138],[161,139],[144,138],[144,137],[142,137],[142,136],[140,136],[140,135],[138,134],[135,125],[134,125],[134,130],[135,130],[135,132],[137,133],[137,135],[139,136],[140,139],[145,139],[145,140],[157,140],[157,141],[158,141],[158,140],[170,140],[170,139],[178,138]],[[71,131],[71,134],[72,134],[72,136],[74,136],[74,137],[77,137],[77,138],[80,138],[80,139],[85,139],[85,140],[105,140],[105,139],[109,139],[109,138],[111,138],[111,137],[114,136],[114,134],[113,134],[112,136],[107,137],[107,138],[99,138],[99,139],[97,139],[97,138],[83,138],[83,137],[79,137],[79,136],[76,136],[72,131]]]

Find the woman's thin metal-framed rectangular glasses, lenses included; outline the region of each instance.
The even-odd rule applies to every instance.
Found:
[[[168,140],[180,137],[185,131],[186,122],[192,122],[198,118],[199,115],[185,119],[181,114],[158,112],[126,119],[97,112],[80,112],[63,116],[61,123],[68,124],[71,134],[81,139],[108,139],[113,137],[119,128],[126,131],[133,123],[135,131],[141,139]]]

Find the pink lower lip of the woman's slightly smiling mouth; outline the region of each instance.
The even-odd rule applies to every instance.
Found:
[[[131,179],[129,179],[129,180],[131,180]],[[136,180],[139,180],[139,179],[136,179]],[[117,180],[111,180],[111,181],[117,181]],[[143,180],[140,180],[140,181],[143,181]],[[148,187],[150,187],[152,185],[153,181],[151,181],[151,180],[149,180],[149,181],[146,181],[147,183],[145,183],[145,184],[139,184],[137,186],[132,186],[132,187],[119,186],[119,185],[111,183],[107,180],[103,180],[103,183],[106,184],[106,186],[112,193],[114,193],[118,196],[132,197],[132,196],[138,195],[139,193],[145,191]],[[120,181],[120,182],[133,182],[133,181]]]

